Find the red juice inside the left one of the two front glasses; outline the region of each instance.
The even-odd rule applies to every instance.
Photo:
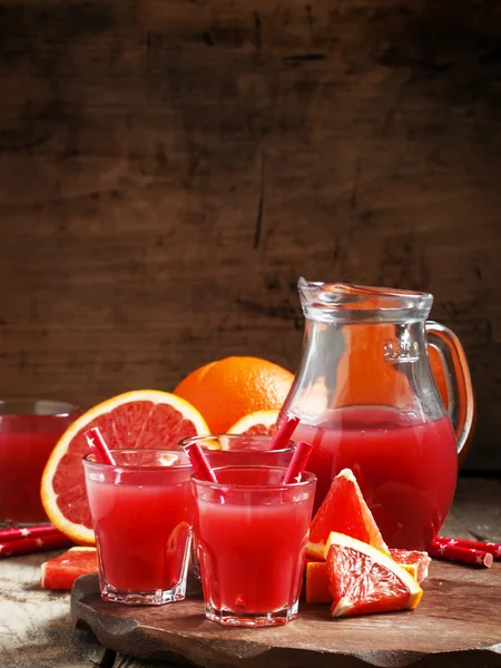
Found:
[[[189,480],[173,485],[87,480],[87,493],[107,583],[122,591],[175,587],[193,520]]]

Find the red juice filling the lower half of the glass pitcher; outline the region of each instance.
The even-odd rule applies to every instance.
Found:
[[[314,510],[332,479],[352,469],[387,544],[426,549],[449,512],[458,477],[448,416],[425,422],[386,406],[345,407],[321,424],[299,423],[294,438],[314,445],[307,465],[318,479]]]

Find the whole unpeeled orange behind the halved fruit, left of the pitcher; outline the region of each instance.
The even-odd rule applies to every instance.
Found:
[[[214,434],[224,434],[247,413],[279,409],[294,375],[259,357],[225,357],[186,376],[174,394],[189,401]]]

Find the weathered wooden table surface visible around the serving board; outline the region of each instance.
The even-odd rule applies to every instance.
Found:
[[[460,479],[442,533],[501,541],[501,480]],[[116,656],[73,629],[69,593],[42,591],[38,584],[40,564],[60,552],[0,560],[0,668],[173,668]]]

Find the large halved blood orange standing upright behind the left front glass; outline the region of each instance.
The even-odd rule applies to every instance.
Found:
[[[156,390],[114,396],[80,415],[59,439],[41,481],[41,500],[50,521],[75,542],[94,544],[81,458],[89,452],[84,433],[98,426],[108,446],[176,450],[186,436],[209,433],[187,401]]]

